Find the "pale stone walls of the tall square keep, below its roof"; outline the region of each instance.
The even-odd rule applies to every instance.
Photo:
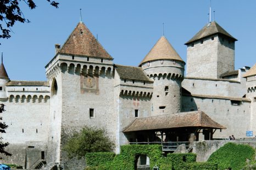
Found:
[[[187,77],[220,78],[234,64],[235,42],[226,37],[214,35],[187,46]]]

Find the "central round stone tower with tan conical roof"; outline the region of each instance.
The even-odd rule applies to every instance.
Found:
[[[140,66],[154,80],[152,115],[179,113],[185,62],[164,36],[148,52]]]

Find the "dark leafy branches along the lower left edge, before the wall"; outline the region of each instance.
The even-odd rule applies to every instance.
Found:
[[[0,113],[3,113],[4,110],[4,104],[0,104]],[[5,130],[7,129],[8,125],[6,125],[4,122],[2,122],[2,117],[0,116],[0,133],[6,133]],[[9,145],[8,142],[3,142],[2,141],[2,136],[0,137],[0,154],[4,154],[6,156],[12,156],[12,154],[8,153],[5,151],[5,148]],[[0,156],[0,160],[2,157]]]

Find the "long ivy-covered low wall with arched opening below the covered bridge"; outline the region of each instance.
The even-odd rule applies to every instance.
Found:
[[[88,153],[86,161],[89,167],[86,170],[134,170],[138,157],[147,155],[149,157],[150,167],[153,169],[155,165],[161,170],[192,170],[192,169],[210,169],[216,170],[216,163],[196,162],[196,154],[168,154],[167,157],[162,155],[161,145],[123,145],[121,153],[115,155],[113,161],[113,153]],[[98,159],[98,160],[97,160]]]

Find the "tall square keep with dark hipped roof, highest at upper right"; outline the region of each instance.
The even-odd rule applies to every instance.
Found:
[[[235,42],[217,22],[209,22],[187,45],[187,77],[218,79],[235,69]]]

